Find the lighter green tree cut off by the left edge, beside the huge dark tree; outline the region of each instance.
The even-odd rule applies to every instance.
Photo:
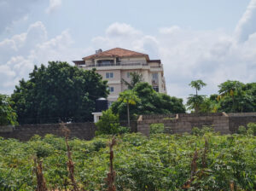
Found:
[[[11,106],[12,104],[13,102],[10,101],[9,96],[0,94],[0,126],[18,124],[17,114]]]

